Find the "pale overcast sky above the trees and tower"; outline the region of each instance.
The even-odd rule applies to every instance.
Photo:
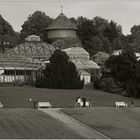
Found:
[[[40,10],[55,18],[61,12],[61,5],[67,17],[101,16],[114,20],[122,26],[124,34],[140,24],[140,0],[0,0],[0,14],[15,31],[20,31],[29,14]]]

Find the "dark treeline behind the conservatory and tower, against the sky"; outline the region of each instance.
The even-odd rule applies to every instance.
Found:
[[[12,35],[22,42],[28,35],[39,35],[43,41],[47,41],[45,30],[54,19],[44,12],[36,11],[27,17],[21,25],[20,33],[16,33],[12,26],[0,16],[0,35]],[[130,35],[123,35],[122,27],[115,21],[108,21],[102,17],[88,19],[86,17],[70,18],[78,27],[78,35],[83,47],[91,57],[97,52],[112,53],[114,50],[125,49],[128,46],[134,51],[140,51],[140,25],[134,25]]]

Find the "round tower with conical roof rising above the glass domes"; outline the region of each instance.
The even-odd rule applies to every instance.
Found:
[[[47,38],[50,42],[57,39],[77,38],[77,27],[63,13],[48,26]]]

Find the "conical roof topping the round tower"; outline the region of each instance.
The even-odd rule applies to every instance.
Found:
[[[47,30],[77,30],[77,27],[72,23],[63,13],[61,13],[52,24],[50,24]]]

